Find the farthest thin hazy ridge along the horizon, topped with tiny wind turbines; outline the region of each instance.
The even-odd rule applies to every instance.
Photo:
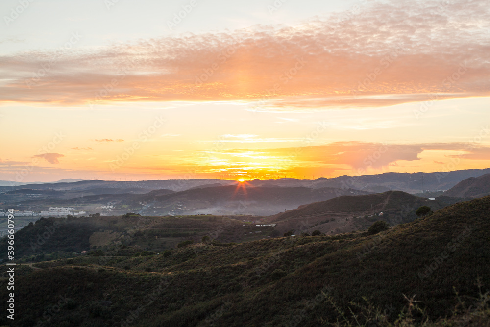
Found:
[[[434,173],[383,173],[377,175],[339,176],[336,178],[294,179],[281,178],[247,181],[247,185],[255,187],[308,187],[308,188],[341,188],[363,190],[370,193],[385,191],[403,191],[411,194],[422,192],[422,176],[424,191],[448,190],[464,179],[479,177],[490,173],[487,169],[467,169],[452,172]],[[5,186],[1,186],[5,184]],[[9,181],[0,181],[0,191],[29,188],[35,190],[53,189],[58,191],[85,191],[99,189],[132,189],[138,193],[151,190],[168,189],[175,192],[191,188],[235,185],[234,180],[223,179],[171,179],[171,180],[141,180],[141,181],[105,181],[105,180],[64,180],[53,183],[22,183],[10,186]],[[125,192],[117,192],[125,193]]]

